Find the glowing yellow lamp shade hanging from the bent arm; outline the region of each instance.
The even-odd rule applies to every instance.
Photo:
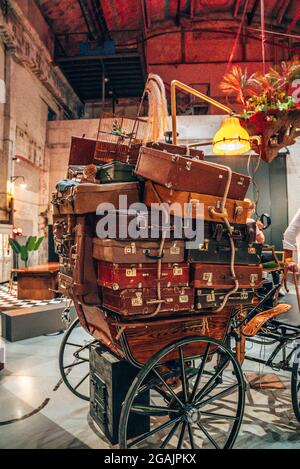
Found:
[[[218,155],[240,155],[251,149],[250,136],[237,117],[227,117],[213,139]]]

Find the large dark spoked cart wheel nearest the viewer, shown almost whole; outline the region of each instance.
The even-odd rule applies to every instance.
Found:
[[[231,350],[212,338],[188,337],[165,347],[140,370],[123,403],[119,444],[122,449],[232,448],[244,405],[245,381]],[[137,417],[147,431],[132,436]]]

